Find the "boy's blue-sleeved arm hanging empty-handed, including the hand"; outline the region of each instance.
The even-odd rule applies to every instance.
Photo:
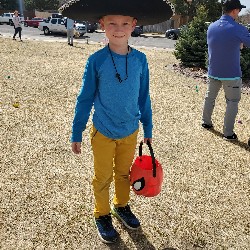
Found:
[[[72,143],[82,142],[82,132],[86,128],[89,119],[90,111],[93,106],[95,94],[97,89],[97,77],[94,61],[89,58],[87,61],[85,71],[82,78],[82,88],[77,97],[75,116],[72,125]],[[72,145],[76,152],[79,152],[79,144]],[[73,150],[73,152],[75,152]]]

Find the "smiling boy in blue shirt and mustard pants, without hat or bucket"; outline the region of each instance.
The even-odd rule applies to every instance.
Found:
[[[130,229],[140,227],[129,202],[129,170],[134,158],[139,121],[144,142],[152,142],[152,110],[146,56],[128,46],[135,18],[107,15],[100,25],[109,44],[91,55],[83,75],[72,126],[72,151],[81,153],[82,132],[94,105],[91,145],[94,155],[94,219],[101,240],[113,243],[118,233],[110,212]],[[113,180],[112,209],[109,187]]]

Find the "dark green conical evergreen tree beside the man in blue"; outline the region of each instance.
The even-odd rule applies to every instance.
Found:
[[[200,6],[197,9],[197,16],[187,28],[181,30],[174,55],[185,67],[206,68],[207,13],[205,6]]]

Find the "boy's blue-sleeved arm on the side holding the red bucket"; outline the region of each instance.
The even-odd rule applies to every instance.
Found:
[[[143,62],[143,72],[141,76],[140,93],[139,93],[139,109],[141,112],[140,121],[143,124],[144,142],[147,140],[152,143],[152,109],[149,94],[149,70],[148,63],[145,57]]]

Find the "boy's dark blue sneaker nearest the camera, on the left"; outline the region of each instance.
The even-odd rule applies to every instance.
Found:
[[[113,227],[111,215],[100,216],[99,218],[94,218],[94,220],[101,241],[104,243],[115,243],[118,233]]]

